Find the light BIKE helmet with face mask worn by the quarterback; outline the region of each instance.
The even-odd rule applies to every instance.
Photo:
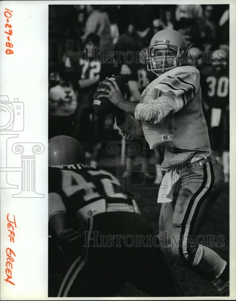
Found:
[[[188,53],[184,37],[176,30],[164,29],[156,33],[147,48],[147,67],[156,74],[181,65],[181,57]],[[168,55],[167,55],[168,54]]]

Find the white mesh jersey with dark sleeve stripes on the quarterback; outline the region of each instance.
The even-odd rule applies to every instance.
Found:
[[[192,66],[161,74],[143,91],[135,118],[128,115],[119,127],[123,138],[130,140],[143,132],[150,149],[171,145],[210,152],[199,82],[199,71]]]

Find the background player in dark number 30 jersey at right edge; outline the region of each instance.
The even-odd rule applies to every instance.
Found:
[[[229,68],[227,49],[214,51],[213,63],[201,71],[202,100],[210,144],[229,182]]]

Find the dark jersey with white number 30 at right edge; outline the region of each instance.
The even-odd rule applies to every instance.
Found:
[[[229,104],[228,68],[207,67],[201,71],[200,84],[203,101],[210,108],[224,109]]]

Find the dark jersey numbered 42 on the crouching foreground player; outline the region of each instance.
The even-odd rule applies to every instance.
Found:
[[[137,212],[134,200],[111,173],[84,164],[48,168],[48,193],[59,194],[69,216],[81,222],[108,211]]]

